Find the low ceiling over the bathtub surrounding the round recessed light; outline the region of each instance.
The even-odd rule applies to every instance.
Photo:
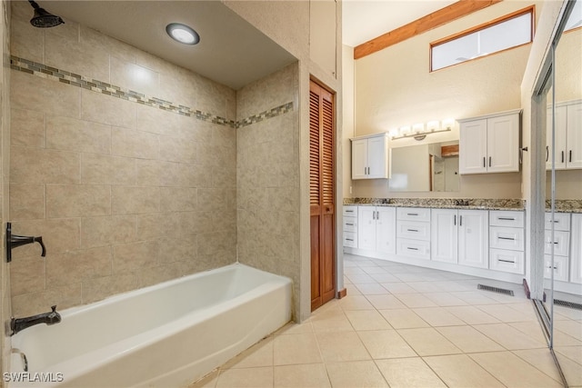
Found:
[[[75,21],[94,28],[234,89],[296,61],[220,1],[37,2],[63,17],[65,23]],[[193,27],[200,43],[173,41],[166,35],[166,25],[173,22]]]

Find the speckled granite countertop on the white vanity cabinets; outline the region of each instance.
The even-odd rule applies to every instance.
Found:
[[[431,207],[437,209],[469,210],[514,210],[526,209],[526,201],[521,199],[480,199],[480,198],[345,198],[344,204],[390,206],[390,207]],[[547,201],[549,211],[549,201]],[[556,201],[557,213],[582,213],[582,201]]]

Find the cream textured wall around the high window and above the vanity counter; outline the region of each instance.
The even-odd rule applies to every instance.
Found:
[[[534,3],[538,14],[542,2]],[[356,60],[356,135],[518,108],[530,45],[430,73],[429,44],[527,5],[498,3]],[[424,142],[429,141],[431,136]],[[344,157],[349,155],[347,149]],[[463,175],[460,192],[454,194],[394,193],[377,180],[354,181],[353,187],[353,196],[522,197],[521,174],[514,173]]]

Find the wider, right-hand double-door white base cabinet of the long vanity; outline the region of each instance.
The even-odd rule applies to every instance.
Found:
[[[431,259],[487,268],[487,211],[432,209]]]

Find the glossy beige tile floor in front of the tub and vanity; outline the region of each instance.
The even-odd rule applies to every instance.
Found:
[[[190,388],[562,386],[521,285],[351,254],[344,267],[344,299]],[[558,308],[556,316],[555,348],[569,384],[582,386],[582,342],[572,336],[582,333],[582,312]]]

